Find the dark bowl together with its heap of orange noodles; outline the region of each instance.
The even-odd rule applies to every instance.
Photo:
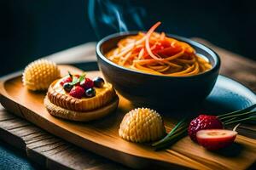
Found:
[[[96,56],[103,76],[134,104],[177,108],[200,103],[217,80],[218,54],[188,38],[156,32],[159,25],[98,42]]]

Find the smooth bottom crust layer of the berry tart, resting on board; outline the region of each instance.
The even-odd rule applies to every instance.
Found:
[[[48,96],[44,98],[44,105],[49,111],[49,114],[53,116],[58,116],[63,119],[79,121],[79,122],[87,122],[102,118],[103,116],[107,116],[109,113],[114,111],[119,104],[119,98],[116,96],[108,105],[103,106],[100,109],[96,109],[94,111],[70,111],[64,109],[58,105],[51,103]]]

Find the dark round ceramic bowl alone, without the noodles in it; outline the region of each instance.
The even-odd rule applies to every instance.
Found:
[[[134,71],[116,65],[105,57],[104,54],[115,48],[119,40],[134,34],[137,32],[116,33],[104,37],[96,45],[99,68],[119,94],[134,104],[165,105],[170,108],[195,105],[207,98],[218,77],[220,67],[218,54],[188,38],[168,35],[189,43],[198,54],[207,57],[212,64],[211,70],[189,77],[166,77]]]

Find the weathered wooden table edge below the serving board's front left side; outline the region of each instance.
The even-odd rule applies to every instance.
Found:
[[[46,133],[31,122],[9,114],[1,105],[0,139],[24,150],[43,169],[127,169]]]

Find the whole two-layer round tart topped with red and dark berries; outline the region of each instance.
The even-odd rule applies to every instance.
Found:
[[[48,88],[44,105],[53,116],[73,121],[91,121],[107,116],[119,104],[112,84],[101,77],[91,80],[72,75],[55,80]]]

